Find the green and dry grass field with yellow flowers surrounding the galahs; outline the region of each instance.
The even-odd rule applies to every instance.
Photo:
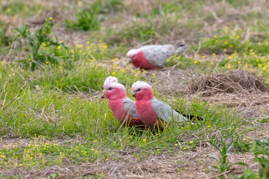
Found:
[[[233,104],[226,106],[220,100],[216,104],[212,98],[198,94],[182,96],[181,89],[187,86],[192,75],[235,69],[253,71],[269,84],[269,33],[267,22],[263,20],[268,16],[263,13],[268,5],[259,5],[257,11],[255,2],[251,1],[171,0],[135,4],[111,0],[89,4],[67,2],[74,8],[70,10],[66,4],[61,9],[51,1],[35,3],[29,6],[28,1],[3,2],[0,9],[0,15],[10,20],[7,24],[0,16],[3,22],[0,26],[4,27],[0,30],[0,52],[3,52],[0,62],[0,170],[4,174],[0,177],[19,173],[10,178],[20,178],[28,175],[28,171],[47,171],[56,166],[67,167],[70,171],[50,171],[44,176],[72,177],[75,173],[72,167],[79,172],[74,177],[80,178],[126,177],[130,173],[153,178],[163,177],[163,173],[171,178],[179,174],[186,178],[194,175],[266,176],[268,160],[260,153],[266,154],[264,145],[267,143],[257,142],[261,138],[267,140],[259,136],[267,131],[266,105],[242,101],[233,108],[228,107]],[[98,8],[82,10],[82,7],[95,6]],[[30,25],[29,29],[22,26],[28,17],[45,12],[46,7],[56,7],[59,12],[65,12],[64,16],[53,19],[48,16],[43,26]],[[80,10],[83,12],[77,14],[76,21],[71,14]],[[90,32],[76,34],[67,30],[66,19],[70,19],[71,29]],[[25,31],[19,30],[20,34],[25,34],[24,38],[16,36],[14,29],[19,27],[25,27]],[[72,39],[67,38],[69,33]],[[140,71],[125,60],[127,51],[141,44],[175,43],[179,39],[184,39],[190,49],[171,56],[164,65],[165,70]],[[61,54],[63,50],[67,50],[65,57]],[[41,68],[31,69],[21,63],[22,60],[28,62],[29,58],[30,62],[38,61],[41,56],[44,57],[43,61],[39,60]],[[193,124],[171,123],[163,130],[149,129],[144,135],[142,129],[121,126],[107,99],[101,98],[102,84],[110,75],[127,87],[130,98],[133,82],[148,81],[153,84],[156,98],[182,113],[195,114],[204,120]],[[221,99],[218,95],[229,98],[235,94],[217,94],[215,99]],[[240,95],[245,94],[237,94]],[[254,107],[263,107],[265,116],[257,116],[257,109],[252,118],[245,117],[242,111]],[[222,143],[224,140],[226,143]],[[226,144],[233,147],[224,147]],[[205,153],[201,152],[203,149]],[[206,158],[209,153],[221,159],[219,164]],[[198,160],[199,157],[202,160]],[[250,168],[231,165],[240,162]],[[89,172],[87,166],[88,173],[85,173],[83,165],[93,166],[93,172]],[[113,168],[114,165],[122,170]],[[155,165],[158,169],[151,168]],[[128,166],[131,168],[125,168]],[[214,166],[218,169],[212,168]],[[135,171],[134,167],[143,172]],[[191,175],[190,170],[194,172]]]

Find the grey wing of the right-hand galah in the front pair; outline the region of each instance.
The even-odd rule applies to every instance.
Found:
[[[171,118],[173,118],[176,122],[183,122],[188,120],[163,101],[154,98],[151,100],[151,105],[153,106],[153,109],[158,117],[165,122],[170,121]]]

